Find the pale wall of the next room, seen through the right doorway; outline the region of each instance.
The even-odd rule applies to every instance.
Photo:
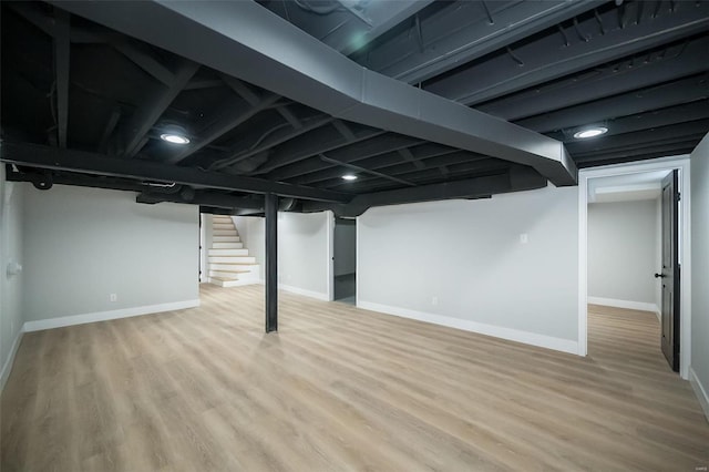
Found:
[[[659,270],[659,242],[657,201],[589,204],[588,297],[659,311],[653,276]]]

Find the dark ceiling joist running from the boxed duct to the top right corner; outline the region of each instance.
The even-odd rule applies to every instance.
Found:
[[[702,9],[705,13],[698,18],[695,9]],[[427,90],[473,105],[706,32],[709,28],[709,2],[677,2],[672,11],[668,6],[667,11],[662,10],[657,17],[646,12],[639,22],[621,27],[614,25],[614,13],[609,11],[600,20],[606,24],[605,31],[602,29],[592,35],[587,29],[580,33],[584,40],[575,39],[565,45],[561,38],[548,35],[512,52],[516,65],[510,57],[500,54],[485,62],[484,73],[475,66],[462,69],[431,83]]]

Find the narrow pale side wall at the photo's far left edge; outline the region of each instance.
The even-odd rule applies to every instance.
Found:
[[[22,276],[8,276],[9,261],[24,264],[22,257],[23,184],[6,182],[0,165],[0,391],[10,374],[22,325]]]

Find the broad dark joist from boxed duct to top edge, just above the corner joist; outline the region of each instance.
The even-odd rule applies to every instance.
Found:
[[[492,21],[482,11],[480,16],[466,11],[482,10],[479,2],[451,3],[440,17],[412,27],[420,28],[424,48],[408,44],[413,42],[413,34],[402,32],[391,39],[391,43],[378,44],[374,51],[356,60],[384,75],[415,84],[584,13],[604,1],[491,3]],[[495,9],[497,4],[500,8]],[[402,43],[408,47],[402,48]]]

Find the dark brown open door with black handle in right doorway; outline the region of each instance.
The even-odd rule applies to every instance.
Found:
[[[679,371],[679,263],[677,203],[678,171],[662,181],[662,353],[674,371]]]

